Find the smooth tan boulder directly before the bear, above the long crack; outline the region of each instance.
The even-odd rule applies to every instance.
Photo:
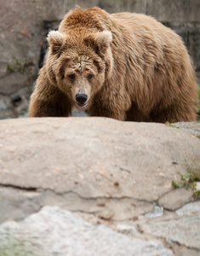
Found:
[[[83,198],[157,201],[171,191],[178,172],[200,160],[197,137],[162,124],[10,119],[1,121],[0,138],[2,184],[72,190]]]

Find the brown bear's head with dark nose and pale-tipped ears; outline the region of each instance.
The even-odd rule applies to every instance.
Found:
[[[46,68],[49,80],[71,103],[87,108],[111,76],[111,32],[66,35],[49,32]]]

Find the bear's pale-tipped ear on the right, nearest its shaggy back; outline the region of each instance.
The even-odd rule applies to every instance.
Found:
[[[110,31],[96,32],[84,38],[85,44],[91,46],[97,54],[105,54],[111,41],[112,35]]]

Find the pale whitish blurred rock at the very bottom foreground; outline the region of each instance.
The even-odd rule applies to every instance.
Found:
[[[160,241],[142,241],[94,226],[59,207],[44,207],[20,223],[0,226],[0,252],[11,255],[14,247],[20,248],[20,256],[174,255]]]

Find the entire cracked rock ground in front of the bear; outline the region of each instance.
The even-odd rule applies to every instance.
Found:
[[[1,256],[199,255],[199,201],[172,186],[200,166],[199,152],[191,129],[174,125],[1,120]]]

